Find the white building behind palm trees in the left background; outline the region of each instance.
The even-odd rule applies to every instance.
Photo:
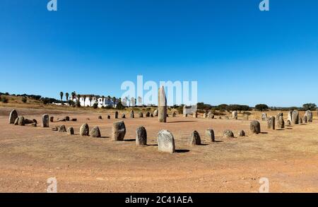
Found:
[[[90,100],[90,97],[92,100]],[[85,98],[85,100],[84,100]],[[78,97],[73,98],[73,102],[77,102]],[[81,95],[80,100],[79,100],[81,107],[93,107],[95,103],[98,103],[98,107],[116,107],[117,103],[119,102],[118,99],[115,101],[113,100],[112,97],[100,97],[99,95]]]

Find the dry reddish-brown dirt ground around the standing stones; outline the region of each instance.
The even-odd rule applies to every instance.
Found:
[[[50,122],[50,127],[73,126],[74,136],[31,126],[8,124],[11,108],[0,108],[0,191],[46,192],[47,179],[57,178],[59,192],[257,192],[259,179],[269,179],[271,192],[318,191],[318,120],[313,124],[266,129],[249,133],[249,121],[169,117],[124,119],[125,141],[110,141],[112,119],[95,113],[18,109],[28,119],[41,114],[70,116],[78,122]],[[276,113],[276,112],[273,112]],[[126,114],[129,117],[129,114]],[[259,115],[255,115],[259,117]],[[285,114],[285,118],[286,118]],[[89,118],[90,120],[88,120]],[[79,127],[100,126],[102,138],[82,137]],[[148,146],[136,147],[138,126],[145,126]],[[204,140],[214,129],[217,142]],[[158,152],[156,136],[168,129],[175,136],[177,153]],[[244,138],[222,137],[225,129]],[[192,131],[199,131],[203,144],[187,146]]]

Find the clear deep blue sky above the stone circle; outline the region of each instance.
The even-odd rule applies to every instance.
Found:
[[[200,102],[318,104],[318,1],[1,0],[0,91],[120,96],[198,81]]]

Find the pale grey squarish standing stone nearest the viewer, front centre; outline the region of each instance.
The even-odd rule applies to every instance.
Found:
[[[175,153],[175,138],[170,131],[161,130],[158,133],[158,150],[165,153]]]

